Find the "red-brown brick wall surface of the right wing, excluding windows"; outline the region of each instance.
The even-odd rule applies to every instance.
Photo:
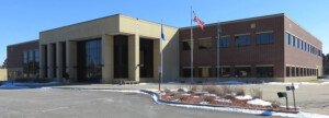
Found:
[[[235,72],[235,66],[250,66],[251,76],[256,76],[257,64],[273,64],[274,75],[273,78],[285,76],[285,64],[298,64],[315,67],[316,64],[321,66],[321,57],[311,56],[311,54],[299,52],[298,49],[290,49],[285,46],[284,33],[290,23],[284,14],[275,14],[269,16],[238,20],[231,22],[220,23],[222,33],[220,36],[230,36],[229,48],[220,48],[220,66],[230,66],[231,75]],[[251,28],[251,25],[256,25]],[[300,37],[305,37],[309,43],[315,44],[321,49],[321,43],[318,39],[311,37],[310,34],[306,33],[303,28],[293,24],[293,33],[300,34]],[[269,45],[257,45],[256,36],[260,32],[273,32],[274,43]],[[235,35],[250,34],[251,44],[245,47],[235,46]],[[200,27],[193,27],[194,38],[194,68],[195,75],[197,75],[197,68],[211,66],[212,73],[216,73],[217,57],[216,57],[216,37],[217,37],[217,25],[208,24],[204,26],[204,31]],[[191,31],[190,27],[180,30],[180,68],[191,67],[191,50],[183,50],[182,40],[190,39]],[[211,49],[198,49],[198,39],[204,37],[212,37]],[[287,56],[290,55],[290,56]],[[182,71],[180,72],[182,76]],[[213,78],[216,74],[212,74]]]

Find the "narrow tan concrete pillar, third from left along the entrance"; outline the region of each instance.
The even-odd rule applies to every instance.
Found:
[[[57,79],[56,80],[61,82],[63,81],[61,80],[63,79],[63,71],[61,70],[63,70],[64,67],[63,67],[63,45],[61,45],[60,42],[56,43],[56,58],[57,58],[56,59],[56,61],[57,61],[56,62],[56,64],[57,64],[56,66],[57,67],[56,68],[57,69],[57,71],[56,71],[57,72],[56,73]]]

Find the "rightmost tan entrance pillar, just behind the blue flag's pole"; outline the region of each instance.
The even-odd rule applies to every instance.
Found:
[[[160,39],[154,40],[154,81],[159,82],[159,67],[160,67]],[[164,72],[164,71],[163,71]],[[162,80],[163,81],[163,80]],[[164,82],[164,81],[163,81]]]

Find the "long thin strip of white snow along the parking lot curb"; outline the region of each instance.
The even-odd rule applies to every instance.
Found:
[[[52,88],[52,87],[43,87],[43,88]],[[77,88],[77,90],[79,90],[79,88]],[[80,91],[83,91],[83,90],[80,90]],[[86,90],[86,91],[90,91],[90,90]],[[129,93],[147,94],[147,93],[145,93],[140,90],[92,90],[92,91],[129,92]],[[152,96],[152,99],[157,104],[163,104],[163,105],[177,106],[177,107],[185,107],[185,108],[201,108],[201,109],[211,109],[211,110],[220,110],[220,111],[234,111],[234,113],[245,113],[245,114],[253,114],[253,115],[294,117],[294,118],[329,118],[329,116],[326,116],[326,115],[304,113],[304,111],[299,111],[298,114],[290,114],[290,113],[269,111],[269,110],[245,109],[245,108],[212,107],[212,106],[198,106],[198,105],[186,105],[186,104],[172,104],[172,103],[166,103],[166,102],[159,101],[159,97],[156,94],[151,94],[151,96]]]

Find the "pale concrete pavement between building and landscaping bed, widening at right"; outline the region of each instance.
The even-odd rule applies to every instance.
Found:
[[[191,87],[188,84],[163,84],[161,88],[179,88]],[[201,88],[203,85],[196,85]],[[219,85],[217,85],[219,86]],[[246,94],[249,94],[251,88],[259,87],[263,91],[263,99],[265,101],[280,101],[282,105],[285,105],[284,98],[279,98],[277,92],[286,92],[283,84],[269,85],[269,84],[242,84],[232,85],[240,86],[246,90]],[[75,87],[75,88],[114,88],[114,90],[158,90],[158,84],[136,84],[136,85],[115,85],[115,84],[84,84],[84,85],[63,85],[53,87]],[[296,90],[296,105],[302,107],[302,111],[329,115],[329,84],[306,84],[299,85]],[[293,106],[292,92],[287,92],[290,106]]]

